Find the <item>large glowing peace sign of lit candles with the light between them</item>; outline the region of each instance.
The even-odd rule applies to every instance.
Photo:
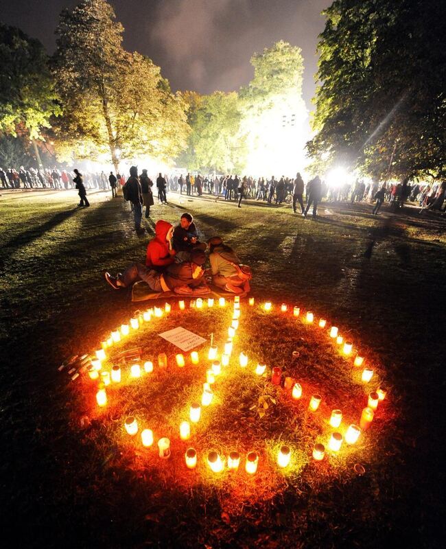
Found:
[[[110,395],[116,398],[119,394],[119,386],[124,380],[137,380],[144,377],[156,374],[156,371],[165,371],[167,367],[183,369],[185,366],[205,365],[206,368],[202,377],[202,392],[199,399],[185,402],[187,409],[187,418],[184,417],[177,425],[177,434],[180,441],[187,441],[187,448],[183,444],[184,454],[183,466],[184,469],[193,470],[198,466],[206,467],[211,474],[221,475],[224,471],[235,474],[239,469],[244,470],[244,474],[254,476],[262,462],[262,453],[254,449],[248,452],[239,452],[237,447],[231,449],[226,455],[216,451],[213,448],[197,449],[193,444],[194,432],[200,426],[203,414],[208,414],[212,410],[215,396],[218,396],[218,379],[231,372],[231,369],[251,370],[258,376],[259,380],[263,380],[265,386],[272,384],[281,388],[284,395],[289,398],[290,402],[303,406],[307,414],[322,414],[321,402],[324,401],[324,395],[321,391],[307,392],[305,383],[302,379],[294,379],[294,377],[285,376],[279,366],[263,364],[257,362],[250,356],[248,349],[237,349],[235,352],[235,342],[237,340],[237,331],[242,327],[243,314],[242,311],[250,309],[253,311],[255,307],[264,314],[271,312],[279,312],[283,316],[287,316],[293,321],[303,323],[307,327],[314,327],[320,334],[320,337],[325,337],[334,351],[341,355],[347,363],[352,366],[352,375],[364,387],[370,388],[367,391],[366,401],[360,403],[357,417],[350,418],[353,421],[344,421],[345,418],[342,410],[333,408],[329,415],[325,418],[327,422],[327,430],[320,436],[314,439],[314,445],[311,455],[307,456],[308,462],[313,460],[315,463],[324,460],[330,460],[342,452],[344,447],[352,448],[363,436],[364,431],[368,430],[373,423],[375,412],[380,404],[386,398],[386,389],[382,385],[374,384],[375,373],[373,367],[366,364],[364,357],[360,355],[354,348],[353,342],[344,340],[339,333],[338,327],[331,326],[324,318],[316,318],[311,311],[301,312],[301,308],[283,303],[279,306],[274,305],[271,301],[266,301],[261,305],[255,305],[255,299],[250,297],[243,304],[237,296],[231,301],[227,301],[224,297],[214,300],[209,299],[192,299],[187,307],[185,301],[178,301],[174,305],[174,314],[181,315],[181,312],[188,309],[195,309],[199,314],[200,309],[211,309],[212,307],[225,307],[230,309],[232,314],[231,321],[228,323],[224,334],[224,343],[219,347],[213,342],[206,348],[191,351],[190,353],[176,353],[176,355],[167,357],[165,353],[159,353],[156,360],[137,360],[130,364],[113,364],[113,350],[119,344],[132,338],[132,334],[139,332],[141,327],[146,323],[154,323],[155,320],[163,318],[163,316],[172,313],[172,305],[165,304],[165,307],[152,307],[144,312],[137,312],[130,320],[122,324],[119,328],[110,332],[108,338],[102,341],[101,348],[95,351],[95,358],[92,358],[84,371],[88,374],[84,379],[90,379],[92,384],[95,384],[95,408],[100,414],[101,410],[106,410],[110,404]],[[243,305],[243,308],[242,308]],[[325,336],[324,336],[325,334]],[[130,353],[131,354],[131,353]],[[298,351],[292,353],[294,357],[298,357]],[[118,389],[118,390],[117,390]],[[323,392],[323,391],[322,391]],[[126,409],[128,406],[126,405]],[[167,436],[155,436],[154,432],[146,425],[144,421],[138,420],[132,413],[126,416],[122,432],[124,437],[132,439],[134,445],[137,445],[144,451],[154,446],[159,458],[168,460],[172,456],[172,452],[176,452],[176,441],[171,441]],[[160,433],[163,435],[163,433]],[[275,447],[274,460],[277,469],[286,470],[293,463],[293,441],[280,441]],[[271,464],[271,460],[269,462]]]

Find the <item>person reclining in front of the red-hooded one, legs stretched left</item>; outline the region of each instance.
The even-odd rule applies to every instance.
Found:
[[[123,274],[118,273],[116,277],[106,272],[105,279],[115,290],[128,288],[133,283],[143,280],[156,293],[175,292],[181,295],[207,293],[209,288],[204,280],[202,268],[204,261],[206,261],[206,254],[202,250],[193,250],[191,261],[171,264],[165,272],[158,272],[150,266],[134,263]]]

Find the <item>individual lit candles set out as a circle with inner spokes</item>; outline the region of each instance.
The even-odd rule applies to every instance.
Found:
[[[192,300],[194,301],[194,300]],[[254,299],[250,298],[249,304],[254,304]],[[220,298],[219,305],[221,307],[224,307],[226,305],[226,302],[224,298]],[[195,306],[198,308],[202,307],[202,300],[197,299],[195,303],[193,303],[191,306]],[[208,306],[213,306],[213,299],[208,300]],[[179,308],[184,309],[185,303],[184,301],[179,302]],[[270,311],[272,309],[272,304],[270,302],[266,302],[263,305],[263,308],[266,311]],[[165,312],[170,312],[171,306],[169,303],[166,303],[165,305]],[[281,305],[281,311],[286,312],[287,311],[287,305],[282,304]],[[300,309],[299,307],[294,307],[293,311],[294,316],[299,316]],[[130,326],[133,329],[138,329],[139,325],[141,323],[141,320],[149,321],[152,315],[156,317],[163,316],[163,309],[159,307],[155,307],[154,310],[149,309],[149,311],[140,314],[139,318],[131,318],[130,319]],[[224,344],[224,353],[222,353],[222,362],[220,360],[216,360],[218,358],[218,347],[216,345],[211,345],[208,352],[208,359],[212,360],[211,369],[207,370],[207,380],[203,384],[203,393],[202,393],[202,406],[209,406],[211,404],[211,401],[213,399],[213,392],[211,389],[211,385],[215,382],[215,376],[219,375],[221,373],[222,366],[228,366],[229,360],[232,353],[232,347],[233,347],[233,337],[235,336],[235,332],[239,326],[239,316],[240,316],[240,303],[239,303],[239,297],[235,296],[234,299],[234,314],[233,314],[233,320],[231,322],[231,327],[228,328],[228,340],[226,340],[226,343]],[[142,317],[142,318],[141,318]],[[306,314],[306,321],[307,323],[313,323],[314,322],[314,316],[311,312],[307,312]],[[326,320],[320,319],[318,323],[319,327],[325,328]],[[124,328],[124,329],[123,329]],[[121,333],[124,335],[127,335],[129,333],[128,325],[121,326]],[[113,336],[115,334],[115,336]],[[119,331],[112,332],[111,336],[111,342],[108,340],[107,342],[102,342],[102,349],[99,349],[96,351],[97,360],[92,361],[92,365],[89,368],[89,375],[92,379],[97,379],[99,377],[99,371],[102,369],[102,360],[106,358],[105,349],[109,347],[113,342],[120,340],[120,334]],[[342,344],[342,336],[338,335],[338,328],[337,327],[331,327],[329,331],[329,335],[331,338],[336,338],[336,341],[338,344]],[[344,355],[350,355],[353,349],[353,344],[349,342],[344,343],[344,349],[343,353]],[[355,366],[361,366],[363,362],[363,358],[359,355],[356,356],[354,364]],[[193,364],[198,364],[200,362],[200,358],[197,351],[193,351],[191,353],[191,362]],[[182,354],[176,355],[176,363],[178,366],[183,367],[185,366],[185,358]],[[241,367],[246,367],[248,365],[248,356],[246,353],[240,353],[239,355],[239,364]],[[160,353],[159,355],[159,366],[161,368],[167,366],[167,356],[165,353]],[[150,373],[153,371],[153,363],[148,361],[144,364],[144,371],[147,373]],[[256,367],[256,373],[257,375],[263,375],[263,373],[266,371],[266,365],[265,364],[257,364]],[[364,370],[365,372],[366,370]],[[362,380],[364,382],[370,381],[373,371],[371,371],[370,377],[364,379],[364,372],[362,375]],[[130,376],[131,377],[141,377],[141,367],[139,364],[132,364],[130,369]],[[106,406],[107,399],[106,399],[106,390],[105,387],[110,384],[111,382],[119,383],[121,381],[121,369],[119,366],[115,365],[113,366],[113,369],[110,373],[108,372],[102,372],[101,374],[102,380],[104,383],[100,384],[99,390],[97,391],[96,399],[97,404],[99,406]],[[272,369],[272,383],[273,384],[281,384],[281,369],[278,367],[274,367]],[[295,382],[295,380],[292,377],[285,377],[284,382],[284,388],[290,389],[292,388],[292,398],[293,399],[300,399],[302,396],[302,386],[301,384]],[[386,397],[386,390],[384,388],[378,388],[376,392],[370,393],[368,395],[368,406],[362,410],[361,419],[360,419],[360,427],[357,425],[349,425],[349,428],[347,429],[347,432],[345,433],[345,441],[348,445],[353,445],[356,443],[357,439],[360,436],[361,430],[366,430],[371,422],[373,421],[375,410],[377,409],[379,401],[383,400]],[[320,395],[312,395],[310,401],[309,401],[309,410],[312,412],[315,412],[320,404],[320,401],[322,400],[322,397]],[[201,407],[200,404],[194,402],[191,404],[189,409],[189,418],[191,422],[198,423],[200,421],[200,415],[201,415]],[[331,412],[331,418],[329,420],[330,425],[333,428],[338,428],[340,426],[340,423],[342,422],[342,411],[341,410],[333,410]],[[128,417],[126,419],[125,423],[126,431],[131,436],[134,436],[138,432],[138,424],[136,419],[134,417]],[[187,440],[190,437],[190,425],[189,422],[183,421],[183,423],[180,424],[180,438],[182,440]],[[338,452],[340,450],[340,447],[342,445],[342,441],[344,440],[344,437],[340,432],[333,432],[331,433],[331,438],[329,439],[328,447],[332,452]],[[141,441],[143,443],[143,446],[149,447],[153,444],[153,432],[150,429],[144,429],[141,432]],[[170,455],[170,441],[166,437],[163,437],[159,440],[159,454],[162,458],[167,458]],[[313,449],[313,457],[315,460],[322,460],[325,456],[325,446],[316,443],[314,445]],[[277,455],[277,463],[280,467],[287,467],[287,465],[290,463],[291,458],[291,450],[288,446],[283,446],[279,450],[279,453]],[[196,450],[193,448],[187,449],[187,452],[185,454],[185,460],[186,465],[189,469],[193,469],[196,467]],[[219,472],[224,469],[224,459],[220,457],[218,452],[212,451],[208,454],[208,464],[211,470],[214,472]],[[256,452],[250,452],[247,454],[246,457],[246,471],[250,474],[254,474],[257,471],[257,464],[259,461],[259,456]],[[228,469],[238,469],[239,467],[239,454],[237,452],[231,452],[228,456]]]

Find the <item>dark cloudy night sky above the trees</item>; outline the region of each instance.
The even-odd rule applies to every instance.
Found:
[[[54,51],[62,8],[79,0],[0,0],[0,19]],[[302,48],[307,106],[314,95],[320,12],[331,0],[112,0],[124,47],[150,57],[174,90],[232,91],[253,76],[250,56],[277,40]]]

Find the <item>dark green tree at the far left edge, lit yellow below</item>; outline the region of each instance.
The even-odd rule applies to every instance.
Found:
[[[43,45],[0,24],[0,74],[0,132],[43,139],[50,117],[60,114]]]

